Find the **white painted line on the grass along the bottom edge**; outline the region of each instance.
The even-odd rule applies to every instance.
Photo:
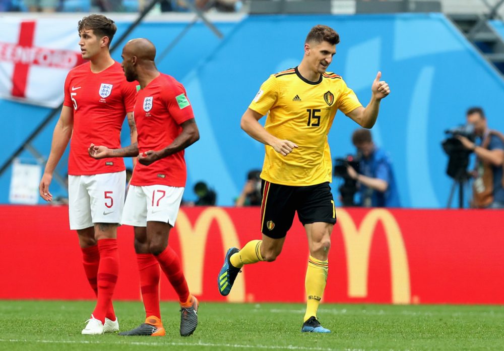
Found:
[[[62,344],[105,344],[106,342],[100,341],[74,341],[74,340],[23,340],[23,339],[0,339],[0,342],[40,342],[40,343],[62,343]],[[219,343],[185,343],[185,342],[139,342],[139,341],[128,341],[128,342],[117,342],[111,343],[117,345],[145,345],[145,346],[209,346],[209,347],[234,347],[234,348],[263,348],[263,349],[279,349],[279,350],[317,350],[317,351],[336,351],[335,348],[322,348],[322,347],[303,347],[303,346],[269,346],[269,345],[239,345],[239,344],[219,344]],[[345,348],[342,351],[365,351],[362,348]]]

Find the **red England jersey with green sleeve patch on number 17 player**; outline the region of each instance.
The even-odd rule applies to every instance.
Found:
[[[138,92],[134,116],[138,150],[142,153],[170,145],[182,132],[180,125],[194,118],[194,113],[183,85],[161,73]],[[131,184],[185,187],[186,178],[184,150],[181,150],[148,166],[137,162]]]

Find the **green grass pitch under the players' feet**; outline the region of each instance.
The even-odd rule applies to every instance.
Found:
[[[121,330],[144,318],[116,302]],[[303,304],[200,305],[195,334],[179,335],[175,303],[162,303],[164,337],[81,335],[93,302],[0,301],[1,350],[504,350],[504,306],[323,304],[331,334],[300,332]]]

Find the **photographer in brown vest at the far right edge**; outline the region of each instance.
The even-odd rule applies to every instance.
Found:
[[[467,123],[474,126],[474,133],[480,139],[476,144],[466,137],[457,136],[467,150],[476,154],[472,206],[504,208],[504,135],[488,129],[481,107],[471,107],[467,110]]]

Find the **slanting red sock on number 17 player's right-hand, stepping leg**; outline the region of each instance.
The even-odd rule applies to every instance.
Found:
[[[156,258],[164,274],[166,274],[166,277],[177,292],[178,300],[181,303],[185,303],[189,298],[189,288],[187,287],[187,282],[182,272],[182,265],[177,254],[171,247],[167,246]]]

